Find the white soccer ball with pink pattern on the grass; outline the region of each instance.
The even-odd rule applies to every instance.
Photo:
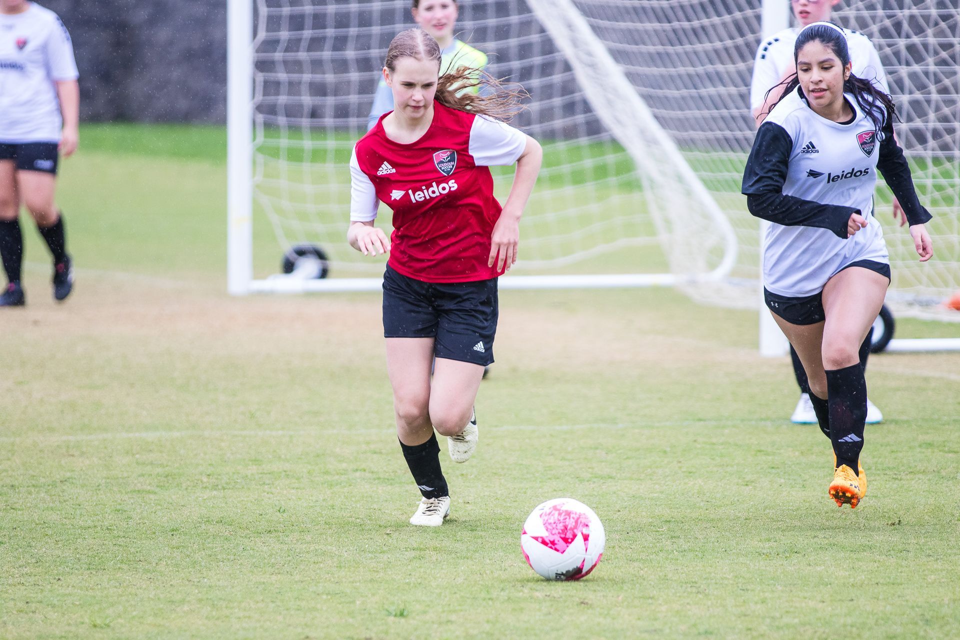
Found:
[[[597,514],[572,498],[539,505],[520,533],[527,564],[547,580],[580,580],[600,563],[606,542]]]

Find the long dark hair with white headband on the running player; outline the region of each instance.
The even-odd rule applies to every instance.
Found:
[[[850,47],[843,30],[832,22],[814,22],[804,27],[800,35],[797,36],[797,42],[793,45],[794,65],[796,65],[800,56],[800,50],[804,48],[807,42],[814,40],[828,47],[840,59],[841,66],[846,67],[850,63]],[[791,77],[767,91],[767,95],[769,96],[770,91],[782,84],[786,84],[786,88],[783,89],[780,99],[774,103],[773,107],[770,107],[770,111],[773,111],[774,107],[780,104],[780,100],[786,98],[800,85],[800,78],[795,72]],[[852,94],[857,106],[870,117],[877,131],[883,129],[883,123],[887,119],[897,117],[897,109],[894,106],[893,98],[876,88],[876,84],[869,80],[857,78],[851,73],[850,77],[843,83],[843,90],[844,93]],[[770,113],[770,111],[767,111],[767,113]]]

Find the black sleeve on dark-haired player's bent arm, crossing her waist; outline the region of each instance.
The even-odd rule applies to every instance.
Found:
[[[787,163],[793,140],[780,125],[765,122],[756,131],[754,147],[743,172],[741,193],[747,197],[750,213],[785,226],[818,226],[847,238],[847,225],[859,209],[823,204],[783,193]]]

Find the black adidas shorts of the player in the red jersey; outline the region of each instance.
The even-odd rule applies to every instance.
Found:
[[[384,338],[434,338],[434,355],[486,367],[493,362],[496,278],[476,282],[422,282],[383,273]]]

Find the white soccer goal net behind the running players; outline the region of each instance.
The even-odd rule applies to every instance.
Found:
[[[458,37],[488,53],[493,76],[530,92],[515,125],[545,150],[520,262],[502,286],[520,283],[517,275],[546,286],[668,283],[708,303],[756,306],[759,225],[739,187],[754,136],[758,4],[460,3]],[[413,24],[410,5],[256,0],[249,291],[282,290],[282,278],[267,276],[298,245],[324,250],[328,281],[382,273],[382,261],[345,240],[348,158],[366,131],[387,45]],[[960,290],[960,18],[935,0],[906,10],[851,0],[835,19],[874,40],[903,119],[901,144],[934,215],[936,255],[921,265],[878,186],[894,272],[888,302],[900,314],[960,320],[941,304]],[[513,168],[493,173],[503,198]],[[381,205],[377,224],[389,231],[389,223]]]

